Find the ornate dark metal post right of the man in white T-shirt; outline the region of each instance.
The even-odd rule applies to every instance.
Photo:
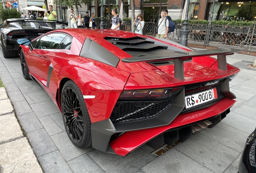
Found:
[[[180,34],[180,44],[184,45],[184,46],[188,46],[188,8],[189,8],[189,2],[190,0],[186,0],[187,1],[187,5],[186,5],[186,14],[185,14],[185,19],[184,19],[184,23],[183,23],[183,27],[181,30],[181,34]]]

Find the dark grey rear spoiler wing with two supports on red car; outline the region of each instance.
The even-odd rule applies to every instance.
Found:
[[[202,56],[213,56],[217,55],[218,69],[227,70],[227,59],[226,55],[234,54],[235,52],[241,52],[244,49],[234,48],[217,48],[209,50],[195,50],[195,51],[174,51],[171,54],[158,54],[149,56],[138,56],[134,58],[124,58],[122,62],[141,62],[141,61],[159,61],[159,60],[174,60],[174,77],[180,80],[184,80],[184,66],[183,61],[188,58],[202,57]]]

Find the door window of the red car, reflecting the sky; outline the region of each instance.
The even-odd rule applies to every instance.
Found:
[[[54,33],[48,34],[43,37],[37,42],[35,48],[37,49],[56,49],[60,42],[66,37],[65,34],[61,33]]]

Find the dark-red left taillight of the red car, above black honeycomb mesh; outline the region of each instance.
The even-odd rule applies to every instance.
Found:
[[[172,89],[152,89],[123,91],[118,100],[166,99],[171,96]]]

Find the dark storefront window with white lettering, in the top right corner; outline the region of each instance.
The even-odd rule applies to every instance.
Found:
[[[212,6],[209,10],[209,16],[212,11]],[[213,20],[249,20],[253,21],[256,18],[256,2],[217,2],[213,10]]]

